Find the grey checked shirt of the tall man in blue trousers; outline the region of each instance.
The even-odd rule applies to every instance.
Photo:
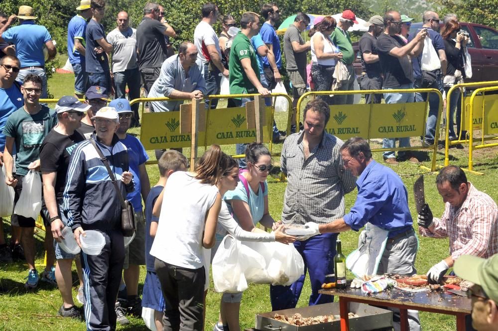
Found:
[[[343,142],[328,133],[304,160],[304,131],[285,139],[280,166],[287,176],[282,222],[329,223],[344,216],[344,194],[355,188],[356,177],[345,170],[339,148]]]

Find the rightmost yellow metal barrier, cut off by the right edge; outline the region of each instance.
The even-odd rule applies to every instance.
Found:
[[[491,101],[489,104],[486,103],[486,92],[489,91],[498,91],[498,86],[494,87],[483,87],[475,90],[472,93],[472,96],[470,98],[470,112],[469,112],[469,170],[473,171],[473,152],[474,150],[479,150],[479,149],[484,149],[484,148],[490,148],[490,147],[496,147],[498,146],[498,143],[493,143],[493,144],[485,144],[484,142],[487,140],[497,140],[498,136],[496,137],[484,137],[485,135],[490,135],[490,134],[498,134],[498,98],[496,95],[493,95],[493,99],[488,100]],[[482,102],[482,118],[480,118],[480,123],[475,123],[474,119],[474,112],[477,109],[474,109],[475,102],[476,102],[476,96],[477,94],[482,93],[483,94],[483,102]],[[479,105],[481,106],[481,105]],[[477,107],[476,107],[477,108]],[[480,124],[481,127],[481,144],[474,146],[474,126],[476,124]]]

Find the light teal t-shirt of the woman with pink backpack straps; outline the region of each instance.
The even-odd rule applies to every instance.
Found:
[[[249,194],[250,199],[248,202],[248,194],[246,192],[246,188],[242,181],[239,181],[237,187],[233,191],[227,191],[223,196],[223,199],[227,202],[229,211],[233,214],[232,205],[229,200],[242,200],[249,204],[249,211],[252,216],[252,222],[256,225],[264,214],[264,197],[268,195],[268,184],[266,180],[264,181],[264,193],[261,192],[261,185],[258,185],[258,191],[254,193],[249,185]],[[234,219],[239,223],[237,216],[235,214]]]

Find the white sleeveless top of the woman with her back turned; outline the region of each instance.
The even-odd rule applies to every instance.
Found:
[[[204,222],[217,193],[216,186],[201,183],[192,173],[176,171],[171,174],[150,254],[178,267],[201,268]]]

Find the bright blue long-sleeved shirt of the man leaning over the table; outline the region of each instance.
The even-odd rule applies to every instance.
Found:
[[[344,221],[353,230],[367,222],[389,231],[389,238],[413,226],[408,209],[408,192],[401,178],[387,166],[372,160],[356,181],[358,196]]]

